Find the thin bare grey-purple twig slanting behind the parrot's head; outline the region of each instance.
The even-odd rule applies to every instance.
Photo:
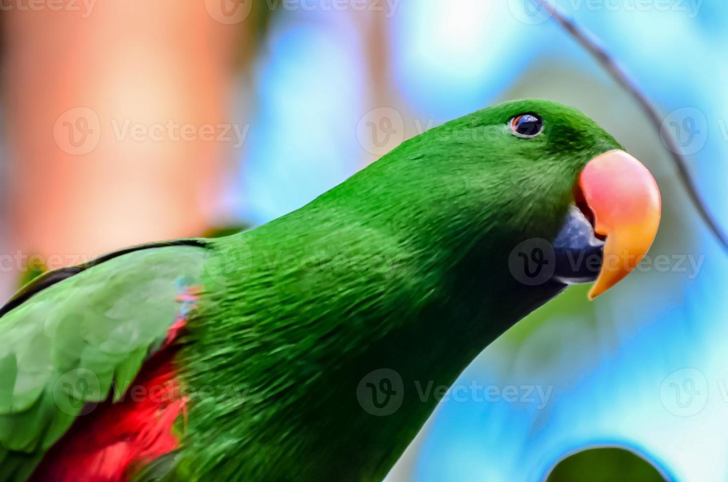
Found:
[[[723,248],[728,250],[728,235],[723,231],[716,218],[713,214],[711,214],[708,206],[700,197],[700,193],[695,186],[695,181],[693,181],[692,176],[688,171],[687,162],[683,155],[680,154],[680,148],[675,136],[670,132],[670,130],[662,127],[662,117],[657,111],[657,108],[655,108],[652,103],[647,100],[646,96],[637,87],[637,84],[629,78],[624,69],[617,64],[617,61],[614,60],[614,58],[612,58],[606,50],[604,50],[604,47],[601,47],[600,42],[593,33],[588,31],[586,28],[577,25],[574,20],[567,17],[563,11],[561,11],[557,5],[552,4],[550,0],[531,1],[541,5],[541,7],[545,9],[546,13],[550,15],[550,17],[553,17],[553,19],[558,22],[558,24],[569,33],[569,35],[574,37],[574,39],[576,39],[576,41],[579,42],[585,50],[587,50],[587,52],[593,55],[604,70],[612,76],[612,79],[627,90],[637,101],[639,106],[649,117],[649,120],[657,130],[657,133],[661,135],[665,147],[667,147],[668,151],[670,151],[670,157],[672,157],[673,162],[677,167],[678,175],[687,190],[690,200],[693,205],[695,205],[695,209],[700,214],[700,217],[703,218],[705,224],[708,225],[708,229],[711,230],[713,235],[718,239],[721,245],[723,245]]]

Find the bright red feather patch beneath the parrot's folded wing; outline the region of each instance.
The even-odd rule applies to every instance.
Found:
[[[170,326],[162,349],[141,368],[122,400],[100,403],[79,416],[52,446],[31,481],[123,482],[144,465],[178,449],[173,424],[186,416],[170,342],[183,328]]]

